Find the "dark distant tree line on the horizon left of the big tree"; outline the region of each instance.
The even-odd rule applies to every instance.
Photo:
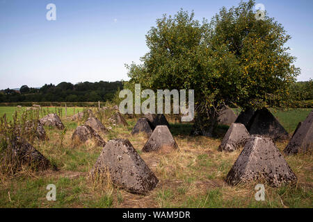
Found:
[[[19,90],[1,90],[0,103],[110,101],[122,87],[121,81],[84,82],[74,85],[62,82],[58,85],[45,84],[39,89],[22,85]]]

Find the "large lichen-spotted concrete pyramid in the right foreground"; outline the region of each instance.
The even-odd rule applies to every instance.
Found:
[[[265,180],[273,187],[285,183],[294,185],[297,181],[273,140],[268,137],[250,137],[226,177],[230,185],[256,180]]]

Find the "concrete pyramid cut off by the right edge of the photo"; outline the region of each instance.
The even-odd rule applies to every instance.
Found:
[[[303,123],[298,124],[289,144],[284,148],[284,153],[292,155],[305,153],[313,149],[313,111]]]

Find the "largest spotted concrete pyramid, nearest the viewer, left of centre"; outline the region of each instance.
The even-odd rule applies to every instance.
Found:
[[[106,175],[107,170],[114,185],[138,194],[151,191],[159,182],[128,139],[107,142],[91,174]]]

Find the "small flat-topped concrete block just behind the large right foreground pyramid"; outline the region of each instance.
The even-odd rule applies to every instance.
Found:
[[[218,151],[233,152],[236,148],[244,146],[249,138],[250,134],[243,124],[232,123],[218,147]]]

